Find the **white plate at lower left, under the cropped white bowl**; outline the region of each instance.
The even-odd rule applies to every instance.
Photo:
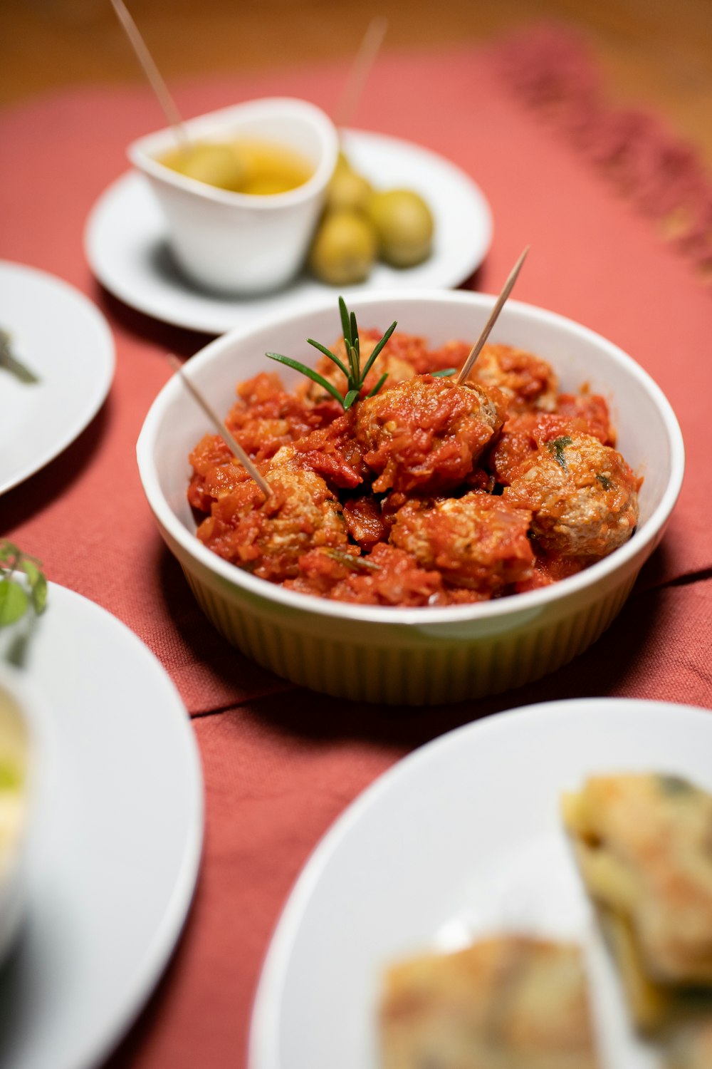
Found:
[[[50,584],[23,670],[52,713],[51,804],[39,808],[27,924],[0,974],[0,1066],[90,1069],[131,1024],[183,927],[201,768],[163,668],[93,602]]]

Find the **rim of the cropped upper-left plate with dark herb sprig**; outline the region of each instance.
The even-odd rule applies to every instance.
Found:
[[[0,286],[5,284],[9,279],[12,280],[13,284],[27,289],[31,294],[41,294],[44,288],[51,286],[54,293],[63,300],[64,307],[67,310],[67,317],[74,320],[75,328],[80,327],[82,331],[86,331],[93,336],[95,350],[94,359],[89,365],[92,369],[91,374],[89,377],[82,377],[81,379],[81,387],[83,389],[83,392],[80,394],[81,404],[70,413],[70,418],[66,420],[62,432],[56,436],[50,445],[41,449],[35,455],[30,453],[15,470],[10,470],[3,475],[0,465],[0,495],[9,490],[13,490],[21,482],[25,482],[26,479],[29,479],[30,476],[35,475],[35,472],[46,467],[50,461],[53,461],[60,453],[64,452],[67,446],[72,445],[79,437],[104,404],[111,388],[115,371],[113,335],[99,309],[85,294],[81,293],[81,291],[77,290],[69,282],[49,272],[32,267],[29,264],[0,260]],[[12,313],[7,319],[12,319]],[[12,334],[13,324],[4,322],[4,314],[0,326],[10,329]],[[27,357],[28,365],[31,366],[32,354],[28,353],[23,355]],[[67,367],[66,371],[70,373],[72,368]],[[27,389],[43,390],[43,384],[39,382],[36,386],[28,386]],[[46,392],[43,392],[41,398],[47,399],[51,404],[51,398]]]

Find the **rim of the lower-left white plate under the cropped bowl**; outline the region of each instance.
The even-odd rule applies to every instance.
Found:
[[[168,672],[141,639],[122,621],[95,602],[54,583],[48,584],[46,613],[48,615],[50,613],[61,615],[63,624],[68,623],[70,625],[72,620],[77,619],[77,615],[82,617],[84,621],[91,621],[92,628],[96,629],[97,633],[102,632],[104,638],[108,642],[113,644],[114,649],[121,648],[122,653],[129,657],[133,670],[142,679],[145,679],[148,675],[151,676],[154,694],[160,694],[162,707],[160,716],[164,722],[162,726],[163,739],[167,738],[164,728],[169,725],[171,743],[175,747],[174,753],[178,753],[180,756],[179,786],[183,795],[187,800],[188,816],[184,826],[180,828],[181,851],[179,864],[175,869],[174,879],[171,880],[170,889],[168,884],[162,888],[164,895],[162,898],[160,923],[154,930],[152,938],[143,945],[140,955],[137,949],[131,981],[129,983],[127,979],[121,996],[115,997],[111,1013],[106,1017],[106,1020],[101,1022],[99,1027],[94,1023],[92,1023],[91,1027],[88,1025],[85,1029],[86,1037],[83,1041],[81,1037],[73,1041],[73,1049],[65,1049],[63,1051],[61,1045],[60,1049],[53,1049],[50,1055],[51,1060],[43,1058],[43,1052],[45,1057],[47,1056],[46,1048],[48,1042],[47,1039],[44,1039],[38,1054],[36,1050],[28,1051],[27,1047],[25,1050],[20,1048],[17,1059],[13,1056],[11,1060],[5,1062],[3,1059],[2,1062],[3,1067],[6,1067],[6,1069],[26,1069],[26,1066],[28,1069],[92,1069],[92,1067],[100,1064],[114,1051],[137,1020],[165,970],[183,931],[192,904],[203,851],[205,820],[203,773],[197,744],[188,711]],[[39,622],[42,623],[42,620]],[[31,638],[31,642],[38,642],[41,645],[42,641],[41,636],[37,634]],[[32,656],[32,648],[30,648],[30,653]],[[42,654],[39,660],[42,661]],[[47,692],[57,683],[57,679],[48,680],[45,677],[38,679],[35,678],[36,675],[36,670],[30,668],[28,680],[41,697],[44,697],[45,704],[49,704]],[[68,684],[61,685],[65,691],[66,698]],[[78,690],[75,701],[77,704],[80,704],[81,700],[81,692]],[[61,744],[58,745],[58,730],[56,725],[51,727],[50,738],[52,743],[49,747],[50,750],[61,749]],[[66,753],[63,756],[66,757]],[[164,752],[162,750],[161,755],[158,756],[162,759]],[[58,763],[56,755],[50,754],[50,758],[51,765]],[[83,755],[80,763],[81,761],[89,761],[90,758],[91,753]],[[50,768],[51,771],[52,769]],[[177,772],[177,769],[172,770],[171,776],[175,777]],[[163,776],[163,786],[165,786],[167,766],[162,762],[160,775]],[[177,779],[174,778],[173,789],[175,789]],[[47,823],[51,823],[51,818],[47,819]],[[45,835],[47,834],[48,832],[45,832]],[[28,917],[30,925],[33,921],[33,910],[38,911],[42,909],[42,905],[37,904],[38,901],[44,899],[45,903],[47,903],[51,897],[47,892],[48,872],[46,869],[47,865],[42,856],[35,857],[30,866],[30,913]],[[44,909],[47,912],[47,904],[45,904]],[[21,942],[18,944],[15,954],[17,954],[17,949],[21,952]],[[31,952],[32,955],[36,955],[36,946],[32,948]],[[34,962],[34,967],[38,967],[38,962]],[[111,965],[109,964],[107,967],[110,969]],[[10,972],[12,971],[12,959],[7,969]],[[29,1017],[33,1028],[42,1032],[43,1020],[42,1017],[38,1017],[36,1020],[34,1019],[33,1014],[37,1011],[33,1008],[33,1005],[30,1006]],[[2,1048],[0,1048],[0,1051],[2,1051]],[[13,1055],[15,1054],[15,1052],[12,1053]]]

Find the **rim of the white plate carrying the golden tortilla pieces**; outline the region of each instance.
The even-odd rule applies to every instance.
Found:
[[[707,724],[712,735],[712,711],[703,707],[644,698],[587,697],[542,701],[516,709],[506,709],[438,735],[397,760],[357,795],[321,836],[308,855],[276,920],[264,957],[253,1001],[248,1041],[249,1069],[287,1069],[287,1067],[283,1067],[279,1058],[276,1040],[284,974],[310,898],[318,886],[333,854],[347,838],[351,828],[358,825],[362,816],[378,806],[392,788],[397,788],[413,772],[416,772],[422,765],[427,765],[433,757],[448,749],[455,749],[462,740],[472,741],[473,737],[479,739],[485,733],[510,732],[516,729],[517,722],[521,722],[522,718],[596,716],[602,707],[605,707],[608,712],[639,717],[646,712],[654,711],[662,712],[663,715],[674,713],[679,717],[693,717],[700,724],[705,718],[709,718]],[[314,1067],[314,1069],[321,1069],[321,1067]]]

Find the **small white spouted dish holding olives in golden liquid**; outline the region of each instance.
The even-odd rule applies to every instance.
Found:
[[[271,97],[213,111],[185,124],[188,137],[237,137],[294,149],[314,171],[303,185],[260,197],[196,182],[158,162],[176,146],[172,129],[140,138],[128,157],[145,174],[165,215],[183,272],[199,285],[235,294],[279,289],[299,270],[338,154],[328,115],[306,100]]]

